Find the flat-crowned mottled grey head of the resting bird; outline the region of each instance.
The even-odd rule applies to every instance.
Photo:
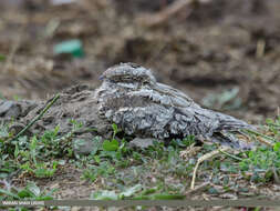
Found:
[[[120,63],[108,68],[100,77],[101,80],[114,83],[155,83],[152,72],[136,63]]]

